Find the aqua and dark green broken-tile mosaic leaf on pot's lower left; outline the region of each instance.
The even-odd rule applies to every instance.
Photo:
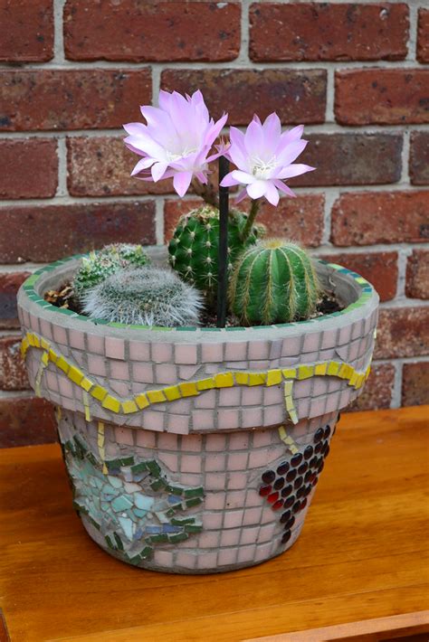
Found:
[[[152,556],[157,543],[179,543],[202,531],[186,510],[200,505],[202,486],[170,483],[155,459],[133,456],[100,461],[81,436],[62,443],[74,507],[131,564]]]

